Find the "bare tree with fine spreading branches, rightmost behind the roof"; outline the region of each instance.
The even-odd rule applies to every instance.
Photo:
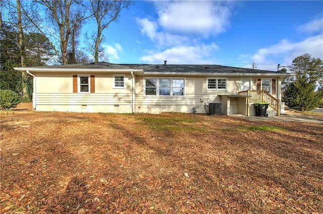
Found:
[[[129,8],[133,4],[132,1],[104,1],[104,0],[90,0],[92,16],[97,24],[97,31],[93,32],[91,39],[94,55],[94,62],[98,62],[99,52],[102,50],[100,43],[103,41],[103,30],[109,27],[110,23],[116,21],[122,9]],[[92,49],[92,48],[91,48]]]

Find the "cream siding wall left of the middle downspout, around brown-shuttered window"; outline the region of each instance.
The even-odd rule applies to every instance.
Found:
[[[120,74],[125,76],[122,89],[113,88],[113,73],[87,74],[95,76],[95,93],[73,93],[77,73],[37,73],[36,110],[132,113],[131,74]]]

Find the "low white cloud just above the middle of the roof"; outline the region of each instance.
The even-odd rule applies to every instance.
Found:
[[[174,46],[163,51],[148,51],[148,55],[140,60],[151,63],[161,64],[167,60],[168,64],[213,64],[212,52],[219,47],[214,44],[203,44],[195,46]]]

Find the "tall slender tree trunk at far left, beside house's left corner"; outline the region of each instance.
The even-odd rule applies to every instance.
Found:
[[[21,23],[21,9],[20,9],[20,0],[17,0],[17,18],[18,18],[18,37],[19,37],[19,50],[20,50],[20,62],[21,67],[24,67],[24,60],[25,60],[25,48],[23,44],[23,30],[22,30],[22,23]],[[22,75],[22,98],[25,100],[29,99],[28,94],[28,85],[27,85],[27,74],[25,72],[21,73]]]

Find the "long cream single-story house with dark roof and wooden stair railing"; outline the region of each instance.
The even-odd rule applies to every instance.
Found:
[[[15,68],[33,76],[35,111],[269,115],[283,111],[281,80],[292,76],[220,65],[88,63]],[[211,103],[211,104],[209,104]],[[209,107],[211,109],[209,109]]]

